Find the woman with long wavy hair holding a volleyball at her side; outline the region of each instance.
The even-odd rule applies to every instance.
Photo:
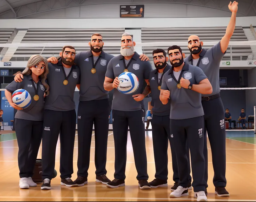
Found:
[[[8,102],[18,110],[15,115],[15,129],[19,147],[19,187],[22,189],[37,186],[31,177],[42,139],[44,97],[49,95],[49,86],[46,83],[48,73],[47,59],[40,55],[32,55],[22,72],[23,81],[13,81],[5,90]],[[32,102],[27,108],[22,109],[13,103],[11,96],[17,89],[29,92]]]

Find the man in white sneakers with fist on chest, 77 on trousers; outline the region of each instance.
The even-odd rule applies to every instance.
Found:
[[[205,159],[203,157],[203,108],[201,94],[210,94],[212,87],[203,71],[184,63],[185,54],[179,46],[168,48],[172,67],[162,78],[160,100],[166,105],[170,102],[170,142],[177,162],[179,183],[170,197],[187,196],[189,179],[186,144],[191,152],[194,197],[197,201],[207,201],[206,182],[203,179]],[[170,101],[169,101],[170,99]]]

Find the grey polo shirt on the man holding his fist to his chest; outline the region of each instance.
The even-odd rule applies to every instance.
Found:
[[[182,68],[181,76],[184,79],[189,79],[192,84],[199,84],[203,79],[207,79],[207,76],[199,67],[187,63]],[[191,119],[203,116],[201,94],[191,89],[178,89],[177,84],[173,67],[171,67],[163,75],[161,86],[161,89],[170,91],[170,119]]]

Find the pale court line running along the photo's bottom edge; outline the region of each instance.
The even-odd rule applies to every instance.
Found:
[[[112,199],[112,200],[164,200],[164,201],[196,201],[194,198],[135,198],[135,197],[71,197],[71,196],[0,196],[0,199]],[[255,201],[235,199],[207,199],[207,201]]]

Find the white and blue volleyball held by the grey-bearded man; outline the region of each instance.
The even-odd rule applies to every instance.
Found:
[[[117,89],[123,94],[132,94],[139,87],[137,76],[131,72],[123,72],[118,76],[119,86]]]

